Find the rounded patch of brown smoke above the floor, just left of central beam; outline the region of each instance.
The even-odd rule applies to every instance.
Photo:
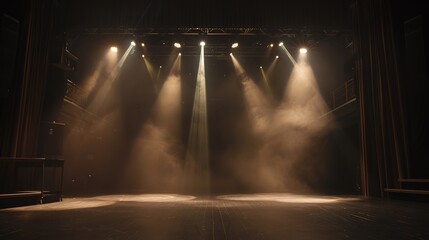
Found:
[[[135,141],[124,179],[139,192],[181,190],[183,148],[176,137],[153,121]]]

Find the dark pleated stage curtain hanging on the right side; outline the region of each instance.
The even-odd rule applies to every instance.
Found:
[[[401,89],[388,0],[356,0],[354,56],[360,112],[362,193],[397,188],[408,162]]]

